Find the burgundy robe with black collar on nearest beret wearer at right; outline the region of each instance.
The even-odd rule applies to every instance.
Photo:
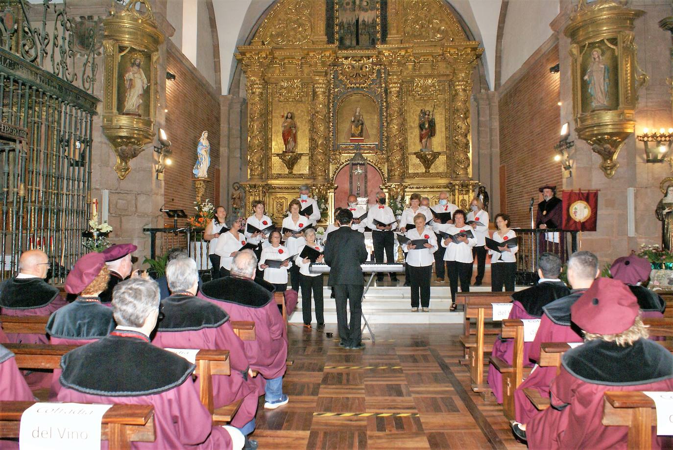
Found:
[[[626,426],[604,426],[606,391],[673,391],[673,356],[647,339],[620,347],[592,340],[563,355],[561,373],[551,383],[551,408],[526,424],[530,449],[626,449]],[[656,437],[652,448],[673,443]]]

